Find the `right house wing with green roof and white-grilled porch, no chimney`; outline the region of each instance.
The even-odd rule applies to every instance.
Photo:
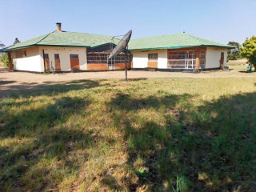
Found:
[[[220,69],[226,66],[227,50],[233,48],[186,33],[137,38],[129,43],[134,70]]]

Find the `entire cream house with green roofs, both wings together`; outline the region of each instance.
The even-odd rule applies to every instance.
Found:
[[[124,70],[125,54],[108,59],[118,38],[62,30],[43,34],[6,47],[10,68],[33,72],[70,70]],[[226,66],[232,46],[211,42],[190,34],[163,35],[130,40],[128,69],[185,70],[219,69]]]

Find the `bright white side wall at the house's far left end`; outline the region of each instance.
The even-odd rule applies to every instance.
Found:
[[[16,52],[26,50],[26,57],[16,58]],[[34,46],[22,50],[12,51],[12,58],[14,63],[14,70],[28,70],[34,72],[43,72],[44,68],[40,61],[39,47]]]

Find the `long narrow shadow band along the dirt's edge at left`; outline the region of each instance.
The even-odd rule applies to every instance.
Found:
[[[101,81],[76,80],[71,82],[42,82],[6,85],[0,90],[0,98],[18,98],[66,93],[71,90],[85,90],[102,86]],[[13,83],[13,82],[12,82]]]

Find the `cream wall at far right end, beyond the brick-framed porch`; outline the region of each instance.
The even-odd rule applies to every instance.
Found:
[[[226,66],[226,48],[206,48],[206,69],[220,67],[219,60],[221,59],[221,53],[224,52],[224,66]]]

